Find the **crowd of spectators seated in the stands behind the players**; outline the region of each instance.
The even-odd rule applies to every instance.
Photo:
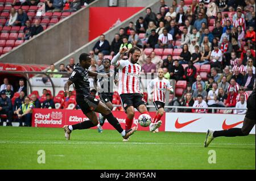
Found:
[[[61,10],[56,6],[49,11]],[[164,78],[187,81],[182,96],[170,94],[168,106],[201,107],[202,109],[179,110],[197,113],[208,112],[205,107],[226,107],[225,113],[232,112],[228,110],[229,107],[245,108],[248,92],[255,89],[255,0],[192,0],[191,5],[185,5],[183,0],[180,3],[174,0],[170,7],[161,0],[159,12],[152,12],[148,7],[145,16],[139,17],[136,22],[130,22],[127,27],[120,28],[112,41],[101,35],[100,40],[89,52],[92,57],[90,69],[101,71],[104,68],[104,56],[114,56],[122,47],[130,49],[134,46],[142,49],[138,61],[142,66],[142,72],[156,73],[158,68],[163,68]],[[148,48],[179,49],[180,53],[170,53],[164,57],[156,55],[155,50],[145,53]],[[205,64],[210,66],[210,72],[207,78],[203,79],[196,66]],[[57,70],[52,64],[48,72],[71,73],[74,65],[75,61],[71,58],[69,65],[61,64]],[[50,76],[63,77],[62,74]],[[5,79],[1,85],[1,103],[11,98],[14,94],[12,89]],[[36,107],[35,101],[38,98],[32,96],[34,100],[27,104],[23,103],[29,110],[26,111],[24,106],[20,107],[20,100],[26,98],[22,83],[17,91],[20,95],[15,100],[16,112],[11,107],[11,113],[18,113],[18,117],[22,117],[24,112],[19,112],[30,112],[30,109]],[[51,94],[44,90],[43,95],[45,100],[42,102],[42,98],[39,98],[38,101],[42,105],[39,103],[38,107],[40,105],[43,108],[55,108]],[[63,102],[61,104],[64,105]],[[17,108],[20,108],[18,112]],[[0,114],[4,111],[10,116],[10,112],[5,111],[1,105],[0,111]],[[175,112],[175,108],[166,111]],[[244,111],[236,110],[234,113]]]

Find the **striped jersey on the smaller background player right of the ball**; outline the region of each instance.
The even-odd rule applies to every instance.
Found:
[[[171,89],[172,86],[170,82],[163,78],[160,80],[159,78],[152,79],[150,84],[148,85],[148,95],[153,97],[153,101],[159,101],[166,103],[166,90],[167,88]],[[151,92],[149,92],[152,90]]]

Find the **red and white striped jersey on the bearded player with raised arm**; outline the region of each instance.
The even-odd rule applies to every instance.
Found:
[[[141,65],[132,64],[129,60],[117,61],[119,69],[118,94],[141,93]]]

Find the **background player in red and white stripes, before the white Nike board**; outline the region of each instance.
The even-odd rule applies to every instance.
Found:
[[[161,117],[163,116],[167,90],[174,92],[174,89],[172,88],[170,82],[164,78],[163,69],[158,69],[158,78],[153,79],[147,87],[148,95],[150,95],[149,100],[153,100],[156,108],[156,115],[154,120],[152,120],[152,125],[160,121]],[[158,129],[156,129],[155,131],[157,132]]]

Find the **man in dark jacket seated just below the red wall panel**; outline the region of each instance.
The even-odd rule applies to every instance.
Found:
[[[100,36],[100,40],[93,47],[95,54],[103,53],[104,55],[110,54],[110,45],[109,41],[105,40],[105,35]]]

